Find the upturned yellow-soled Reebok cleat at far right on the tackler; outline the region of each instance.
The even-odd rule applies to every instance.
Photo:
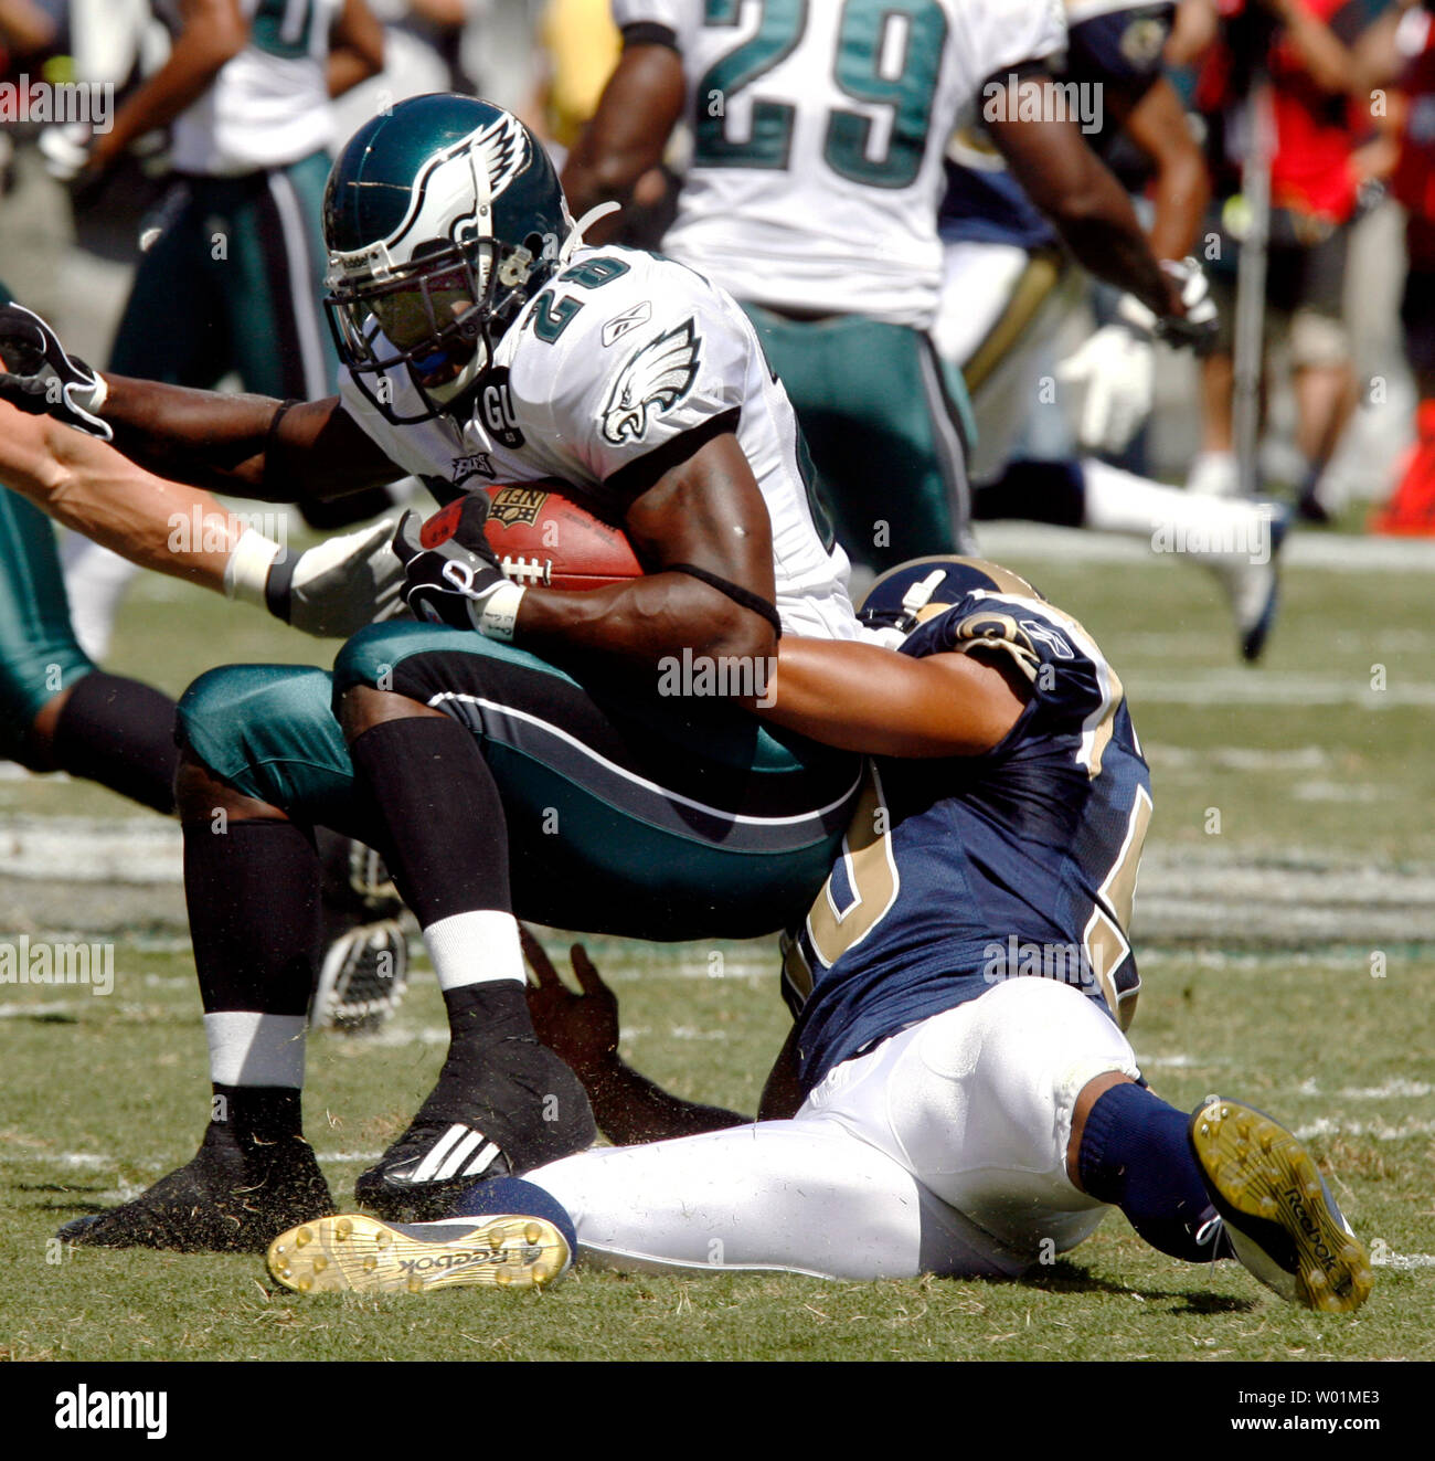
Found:
[[[1365,1303],[1369,1254],[1285,1126],[1253,1106],[1212,1100],[1190,1135],[1231,1246],[1255,1278],[1308,1309],[1349,1313]]]

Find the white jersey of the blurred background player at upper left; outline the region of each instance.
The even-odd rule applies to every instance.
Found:
[[[328,32],[340,0],[239,0],[250,41],[171,129],[177,172],[236,177],[333,146]],[[178,0],[155,0],[172,35]]]

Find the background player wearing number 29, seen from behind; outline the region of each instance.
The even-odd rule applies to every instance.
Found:
[[[616,0],[625,50],[563,169],[574,206],[626,202],[686,118],[674,259],[740,300],[863,561],[966,533],[956,413],[927,329],[942,285],[942,156],[963,107],[1073,250],[1162,317],[1184,305],[1117,181],[1058,120],[1051,0],[743,6]],[[1053,118],[1048,121],[1036,118]]]

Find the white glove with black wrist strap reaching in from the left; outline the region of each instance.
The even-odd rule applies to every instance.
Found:
[[[269,611],[305,634],[347,638],[403,612],[403,564],[390,552],[394,520],[328,538],[276,560],[264,583]]]

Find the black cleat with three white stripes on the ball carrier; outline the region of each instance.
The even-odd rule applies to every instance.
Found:
[[[409,1129],[353,1195],[387,1223],[431,1223],[474,1182],[571,1157],[596,1137],[578,1077],[531,1036],[501,1040],[476,1077],[450,1056]]]

